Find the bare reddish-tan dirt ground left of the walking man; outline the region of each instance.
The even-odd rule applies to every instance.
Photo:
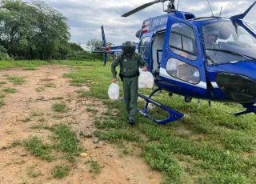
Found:
[[[38,125],[39,118],[51,126],[54,123],[66,123],[72,130],[83,131],[90,134],[94,131],[94,116],[87,112],[88,106],[97,108],[97,116],[101,116],[106,110],[101,102],[90,98],[79,98],[75,90],[89,90],[85,86],[70,86],[70,78],[63,78],[63,74],[70,72],[66,66],[40,66],[39,70],[0,70],[0,82],[7,82],[0,87],[0,93],[5,87],[14,87],[18,91],[14,94],[6,94],[2,98],[6,105],[0,108],[0,184],[3,183],[159,183],[162,175],[151,170],[146,162],[138,157],[139,151],[134,155],[121,157],[122,149],[106,142],[97,142],[97,138],[82,138],[82,145],[87,149],[83,156],[77,158],[76,164],[70,170],[69,175],[63,179],[53,178],[51,168],[55,164],[65,162],[58,159],[57,162],[47,162],[34,157],[23,146],[8,148],[18,140],[25,140],[30,135],[36,135],[45,142],[49,139],[50,131],[43,129],[31,129]],[[6,75],[24,77],[26,82],[14,86],[6,79]],[[56,87],[44,87],[52,83]],[[4,93],[2,93],[4,94]],[[62,97],[60,100],[52,98]],[[1,98],[0,98],[1,99]],[[52,105],[55,102],[64,102],[70,108],[69,112],[59,114],[54,112]],[[33,111],[42,112],[41,117],[34,116],[29,122],[22,122]],[[40,120],[39,120],[40,121]],[[101,173],[92,177],[89,166],[84,162],[93,158],[101,166]],[[42,175],[32,178],[29,168],[41,171]]]

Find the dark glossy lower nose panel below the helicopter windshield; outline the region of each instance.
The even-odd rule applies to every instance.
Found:
[[[242,74],[221,72],[215,79],[222,93],[235,102],[256,102],[256,76],[252,79]]]

